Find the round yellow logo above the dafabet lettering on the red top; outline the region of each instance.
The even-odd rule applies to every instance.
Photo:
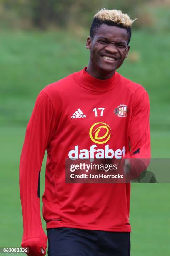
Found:
[[[97,122],[90,127],[90,138],[97,144],[104,144],[110,139],[111,128],[107,123]]]

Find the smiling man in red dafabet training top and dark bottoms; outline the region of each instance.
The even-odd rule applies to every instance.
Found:
[[[65,159],[149,158],[149,98],[116,72],[130,49],[133,21],[118,10],[94,16],[88,67],[45,87],[37,97],[20,159],[23,247],[28,255],[129,256],[130,184],[65,182]],[[40,170],[47,150],[43,218]],[[92,153],[93,152],[93,153]],[[100,155],[101,154],[101,155]]]

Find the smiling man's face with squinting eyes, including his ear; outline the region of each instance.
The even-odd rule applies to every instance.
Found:
[[[90,49],[90,66],[102,73],[114,72],[128,56],[128,39],[125,28],[102,24],[94,38],[87,38],[86,48]]]

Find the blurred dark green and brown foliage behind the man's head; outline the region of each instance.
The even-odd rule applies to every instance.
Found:
[[[97,10],[107,8],[122,10],[132,19],[139,17],[140,22],[134,24],[137,27],[147,25],[147,20],[155,26],[150,6],[158,9],[169,4],[170,0],[105,0],[104,3],[103,0],[1,0],[0,21],[6,19],[9,26],[16,23],[16,26],[23,27],[23,21],[28,20],[29,24],[40,29],[47,29],[50,25],[89,27]]]

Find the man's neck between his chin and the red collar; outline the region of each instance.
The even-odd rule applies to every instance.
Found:
[[[105,72],[101,69],[95,68],[94,66],[91,65],[91,63],[88,64],[86,72],[90,74],[90,76],[100,80],[109,79],[115,74],[115,70],[113,70],[112,72]]]

